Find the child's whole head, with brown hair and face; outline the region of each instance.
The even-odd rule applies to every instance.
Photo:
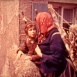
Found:
[[[37,29],[36,29],[35,23],[33,23],[33,22],[27,23],[26,27],[25,27],[25,32],[29,37],[34,38],[37,34]]]

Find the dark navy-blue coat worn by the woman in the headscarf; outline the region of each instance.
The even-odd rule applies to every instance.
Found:
[[[38,46],[43,53],[41,59],[41,69],[43,73],[56,72],[60,74],[66,66],[64,57],[65,45],[56,28],[52,29],[46,40],[43,40]]]

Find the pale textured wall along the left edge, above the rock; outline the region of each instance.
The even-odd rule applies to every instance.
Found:
[[[18,44],[19,0],[0,0],[0,73],[10,49]]]

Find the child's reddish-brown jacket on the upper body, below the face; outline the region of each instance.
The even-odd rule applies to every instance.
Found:
[[[21,50],[23,53],[34,55],[36,45],[37,39],[32,40],[28,36],[26,36],[25,41],[22,44],[20,44],[19,50]]]

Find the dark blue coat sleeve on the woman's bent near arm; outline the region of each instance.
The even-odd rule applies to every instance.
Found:
[[[50,55],[43,54],[42,62],[59,64],[63,58],[64,45],[59,34],[54,35],[50,41]]]

